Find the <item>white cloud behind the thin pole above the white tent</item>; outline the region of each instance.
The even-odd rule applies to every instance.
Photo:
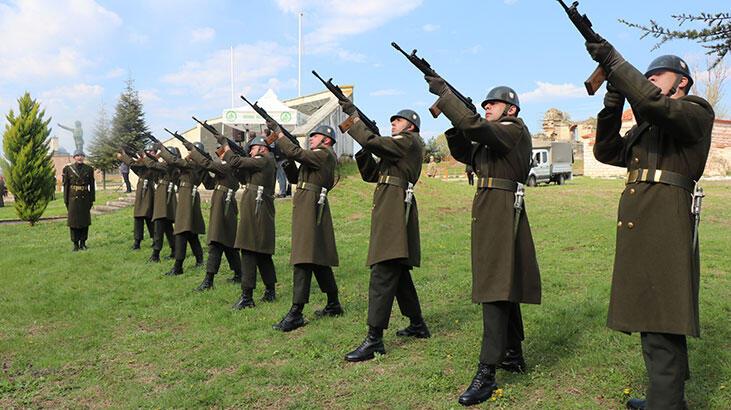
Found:
[[[265,91],[263,82],[276,78],[291,64],[293,51],[271,41],[234,47],[237,89],[246,93]],[[178,71],[164,75],[162,81],[174,87],[171,93],[187,90],[206,100],[228,101],[231,92],[230,59],[230,50],[221,49],[201,60],[185,62]]]

